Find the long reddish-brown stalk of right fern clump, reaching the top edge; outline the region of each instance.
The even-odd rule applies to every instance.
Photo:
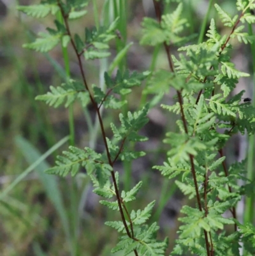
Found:
[[[160,23],[161,22],[161,10],[160,10],[160,6],[159,6],[159,2],[157,2],[156,0],[153,0],[153,3],[154,3],[155,11],[156,11],[157,20]],[[164,49],[166,50],[166,55],[168,57],[168,64],[169,64],[170,70],[171,70],[171,72],[174,72],[173,64],[172,64],[172,61],[171,61],[170,46],[166,45],[166,42],[164,42]],[[178,90],[177,90],[177,96],[178,96],[178,100],[179,100],[179,104],[180,104],[180,112],[181,112],[181,117],[182,117],[182,123],[184,124],[184,130],[185,130],[186,134],[188,134],[186,118],[185,118],[185,115],[184,115],[184,109],[183,109],[183,105],[182,105],[182,94]],[[199,207],[200,211],[203,211],[202,205],[201,205],[201,200],[200,200],[200,194],[198,192],[198,182],[196,180],[196,170],[195,170],[195,167],[194,167],[194,156],[193,156],[193,154],[189,154],[189,160],[191,162],[191,173],[192,173],[192,176],[193,176],[194,186],[195,186],[195,190],[196,190],[196,199],[198,201],[198,207]],[[210,245],[209,245],[209,242],[208,242],[207,231],[204,229],[203,232],[204,232],[204,235],[205,235],[205,244],[206,244],[206,247],[207,247],[207,255],[210,256]]]

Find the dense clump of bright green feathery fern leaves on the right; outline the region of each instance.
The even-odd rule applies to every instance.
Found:
[[[251,241],[253,226],[243,227],[242,232],[249,237],[246,239],[236,229],[234,219],[235,206],[241,195],[254,193],[253,182],[245,178],[245,162],[235,163],[228,169],[226,157],[218,154],[222,154],[222,148],[233,133],[255,132],[255,109],[250,102],[241,102],[244,91],[230,96],[238,79],[249,77],[249,74],[235,68],[228,51],[231,38],[244,43],[254,40],[245,32],[245,26],[238,26],[240,22],[255,22],[254,15],[246,12],[254,7],[254,1],[237,1],[237,8],[242,13],[231,17],[215,4],[221,22],[232,28],[230,34],[219,34],[212,19],[206,34],[208,40],[180,47],[178,50],[184,53],[179,57],[171,56],[175,73],[156,71],[147,87],[147,93],[157,90],[166,93],[171,88],[179,93],[177,103],[162,105],[164,109],[179,114],[182,120],[177,121],[179,131],[166,133],[164,142],[170,145],[168,160],[154,169],[170,179],[180,176],[181,180],[175,183],[184,195],[189,199],[196,198],[198,203],[196,207],[182,207],[184,216],[179,218],[182,222],[179,239],[175,241],[171,255],[210,255],[208,252],[212,246],[214,255],[240,255],[238,243],[242,240],[246,243],[245,250],[254,254],[251,249],[254,247],[254,241]],[[180,6],[173,13],[180,19]],[[145,19],[141,43],[164,43],[162,24],[163,17],[160,23]],[[171,25],[169,20],[168,24]],[[180,31],[182,29],[180,26]],[[244,186],[238,186],[238,179],[245,181]],[[233,218],[222,217],[226,211],[230,211]],[[225,225],[235,225],[236,231],[227,236]]]

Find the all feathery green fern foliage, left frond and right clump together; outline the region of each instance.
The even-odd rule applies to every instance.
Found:
[[[170,0],[163,1],[168,4]],[[177,1],[180,2],[180,1]],[[156,202],[150,202],[144,209],[130,210],[126,206],[136,200],[142,181],[133,188],[120,192],[122,184],[119,173],[115,171],[115,163],[131,162],[145,155],[143,151],[135,151],[129,147],[136,142],[143,142],[147,137],[139,131],[149,121],[147,114],[150,104],[147,103],[140,110],[126,111],[123,106],[127,103],[126,96],[135,86],[141,86],[143,80],[149,78],[145,94],[156,94],[159,98],[170,89],[177,91],[177,102],[174,105],[162,105],[170,112],[180,115],[177,129],[168,130],[164,142],[168,144],[167,160],[163,165],[154,166],[163,176],[175,180],[175,184],[189,199],[196,199],[196,205],[183,206],[179,221],[179,238],[171,255],[240,255],[239,245],[244,242],[244,248],[253,255],[255,229],[251,223],[241,225],[235,220],[235,207],[242,195],[254,195],[254,181],[245,177],[245,162],[234,163],[230,168],[226,165],[223,147],[234,133],[255,132],[255,109],[249,102],[242,103],[244,91],[235,96],[231,93],[235,89],[240,77],[248,77],[235,68],[231,62],[231,38],[237,38],[244,43],[252,43],[253,36],[245,32],[245,24],[254,23],[254,15],[248,13],[255,8],[252,0],[238,0],[239,15],[231,17],[226,11],[215,4],[215,9],[224,26],[231,27],[230,34],[221,35],[217,31],[215,20],[212,19],[206,33],[207,41],[198,45],[186,45],[178,49],[179,56],[171,56],[169,45],[183,45],[191,42],[193,35],[184,36],[189,26],[183,18],[182,3],[172,13],[161,13],[160,5],[154,2],[157,20],[145,17],[142,21],[142,45],[164,45],[170,64],[170,71],[157,70],[152,72],[129,72],[123,67],[112,77],[113,69],[120,63],[127,53],[129,46],[123,47],[110,64],[109,72],[105,72],[105,87],[87,84],[82,66],[82,58],[101,59],[110,56],[110,40],[120,40],[117,27],[122,26],[122,17],[113,20],[107,26],[85,27],[85,34],[71,34],[69,21],[78,19],[87,13],[84,8],[87,1],[42,1],[35,6],[20,6],[33,17],[45,17],[49,13],[62,15],[63,24],[55,20],[55,28],[47,28],[48,33],[40,33],[33,43],[24,47],[40,52],[48,52],[58,43],[67,47],[71,42],[82,71],[82,81],[68,80],[61,86],[50,86],[50,91],[39,95],[36,100],[42,100],[48,105],[59,107],[80,100],[82,107],[91,102],[99,120],[102,141],[105,146],[97,152],[85,147],[70,146],[57,156],[55,166],[48,169],[48,174],[59,176],[75,176],[84,171],[91,177],[93,192],[103,197],[100,203],[112,211],[119,212],[120,220],[107,221],[106,225],[120,233],[119,242],[112,249],[112,253],[122,255],[164,255],[168,246],[167,239],[157,241],[156,223],[146,224],[152,215]],[[240,22],[244,25],[239,26]],[[151,70],[154,70],[152,68]],[[102,89],[103,88],[103,89]],[[120,110],[119,121],[110,123],[112,130],[106,130],[105,121],[101,114],[102,107]],[[124,111],[123,111],[124,110]],[[108,110],[110,111],[110,110]],[[109,136],[111,137],[106,137]],[[237,181],[245,181],[239,186]],[[230,211],[231,218],[223,216]],[[234,225],[235,232],[226,235],[226,225]],[[237,230],[237,225],[240,230]],[[209,253],[211,250],[211,253]]]

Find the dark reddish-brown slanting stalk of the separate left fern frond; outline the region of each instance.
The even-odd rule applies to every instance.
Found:
[[[106,141],[105,127],[103,125],[103,119],[101,117],[101,113],[99,111],[98,104],[95,102],[95,100],[94,100],[94,98],[92,96],[92,93],[89,90],[89,86],[87,84],[87,80],[85,79],[85,73],[84,73],[84,68],[83,68],[83,65],[82,65],[81,54],[78,52],[77,47],[75,46],[75,41],[73,40],[73,38],[71,36],[71,31],[69,29],[69,24],[68,24],[68,17],[64,14],[64,10],[62,9],[60,1],[58,1],[58,5],[59,5],[59,8],[61,10],[62,17],[64,19],[64,24],[66,26],[67,33],[68,33],[68,35],[70,37],[70,40],[71,40],[71,45],[73,46],[73,49],[75,50],[75,54],[76,54],[77,59],[78,59],[78,66],[80,68],[80,73],[82,75],[84,86],[85,86],[85,88],[87,89],[87,91],[89,93],[89,98],[91,100],[91,103],[92,103],[92,105],[93,105],[93,107],[96,110],[96,113],[98,115],[99,124],[100,124],[100,128],[101,128],[101,133],[102,133],[102,136],[103,136],[103,141],[104,141],[104,144],[105,144],[106,154],[107,154],[107,158],[108,158],[108,163],[109,163],[109,165],[111,167],[113,167],[113,162],[112,162],[112,159],[111,159],[111,156],[110,156],[110,150],[108,148],[108,144],[107,144],[107,141]],[[123,212],[123,209],[122,209],[122,204],[124,205],[124,203],[122,202],[122,200],[120,198],[119,189],[117,187],[117,181],[115,179],[115,174],[114,174],[113,170],[111,171],[111,175],[112,175],[113,186],[114,186],[116,197],[117,197],[117,202],[118,202],[118,205],[119,205],[120,215],[121,215],[122,222],[124,224],[126,233],[128,234],[129,237],[135,239],[135,237],[133,235],[133,225],[131,224],[131,227],[132,227],[132,234],[131,234],[129,229],[128,229],[128,225],[126,223],[126,218],[124,216],[124,212]],[[127,212],[127,215],[129,216],[128,212]],[[131,220],[130,216],[129,216],[129,220]],[[135,240],[137,241],[137,239],[135,239]],[[138,256],[138,252],[136,250],[134,250],[133,252],[135,253],[136,256]]]

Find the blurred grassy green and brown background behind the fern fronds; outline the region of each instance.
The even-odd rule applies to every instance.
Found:
[[[104,9],[105,2],[109,3]],[[114,16],[113,1],[98,0],[99,19]],[[184,17],[191,26],[184,34],[200,32],[201,23],[208,10],[209,1],[183,0]],[[222,9],[235,14],[235,1],[210,1],[218,3]],[[81,170],[71,179],[49,176],[43,170],[54,165],[54,158],[68,147],[69,110],[64,107],[54,109],[43,102],[36,102],[38,94],[44,94],[49,86],[59,86],[65,77],[61,47],[55,47],[50,53],[41,54],[22,48],[22,44],[33,41],[34,36],[52,27],[53,17],[33,19],[16,10],[16,6],[36,4],[34,0],[0,0],[0,254],[3,256],[43,256],[43,255],[112,255],[111,248],[117,241],[117,232],[104,225],[105,220],[119,219],[118,213],[107,210],[99,204],[101,200],[92,193],[89,178]],[[168,6],[167,11],[174,10]],[[126,3],[127,26],[124,33],[126,43],[133,41],[126,56],[126,66],[130,70],[157,70],[168,68],[163,48],[153,49],[139,45],[141,22],[143,17],[155,17],[152,0]],[[84,33],[84,27],[95,24],[92,3],[83,19],[71,23],[73,33]],[[108,13],[106,13],[108,11]],[[208,14],[207,27],[214,17],[221,33],[230,33],[231,29],[222,27],[214,8]],[[109,19],[110,19],[109,18]],[[229,31],[228,31],[229,30]],[[198,41],[195,38],[194,43]],[[252,73],[252,55],[249,45],[232,40],[233,61],[237,69]],[[88,61],[85,73],[89,84],[100,84],[101,75],[107,70],[108,63],[117,54],[115,42],[111,43],[112,57],[105,61]],[[173,47],[173,54],[178,54]],[[155,56],[152,63],[152,56]],[[79,79],[77,60],[69,49],[71,76]],[[146,100],[142,89],[135,89],[128,100],[128,109],[135,110]],[[246,90],[244,96],[252,95],[252,76],[240,79],[233,92]],[[174,103],[175,92],[170,91],[162,99],[163,103]],[[111,122],[118,119],[119,112],[105,111],[104,123],[109,135]],[[73,105],[75,120],[75,145],[91,146],[103,150],[100,133],[96,133],[95,113],[89,105],[83,109]],[[122,166],[117,163],[122,185],[127,190],[139,180],[143,181],[142,191],[129,209],[138,209],[156,199],[150,222],[159,221],[161,229],[159,239],[170,237],[168,253],[173,248],[176,231],[179,228],[179,210],[189,202],[176,188],[173,181],[161,177],[154,165],[160,165],[166,159],[169,150],[162,140],[166,132],[175,131],[177,116],[165,112],[159,104],[149,112],[149,123],[142,133],[149,137],[147,142],[138,144],[138,148],[147,152],[147,156]],[[235,135],[226,150],[228,164],[242,160],[247,154],[247,137]],[[238,208],[242,215],[242,204]],[[117,253],[115,255],[118,255]],[[121,255],[121,253],[119,254]]]

